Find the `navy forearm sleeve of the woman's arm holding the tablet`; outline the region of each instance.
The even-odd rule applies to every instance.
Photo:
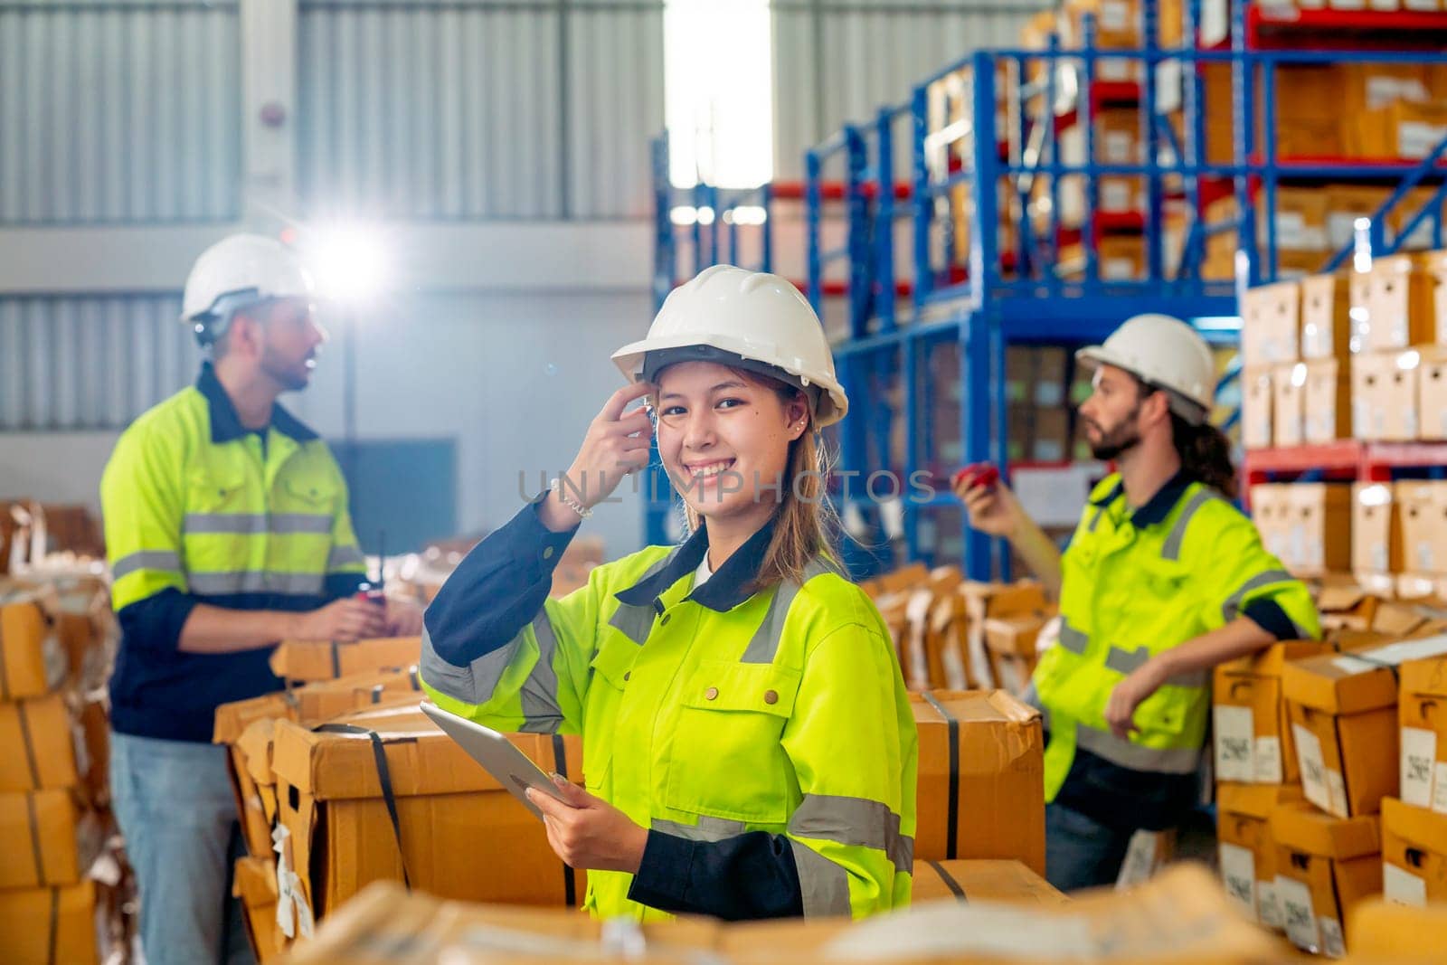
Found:
[[[650,830],[628,897],[660,911],[728,922],[805,913],[793,845],[763,830],[724,841]]]

